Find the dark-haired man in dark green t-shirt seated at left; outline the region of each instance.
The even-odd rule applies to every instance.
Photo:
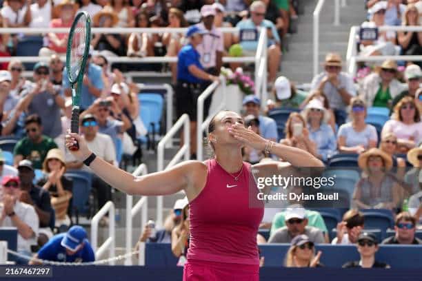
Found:
[[[27,136],[22,138],[14,147],[14,166],[17,167],[19,161],[23,159],[31,160],[34,169],[42,169],[44,158],[48,151],[57,148],[52,138],[43,136],[41,132],[41,118],[37,114],[28,116],[25,120]]]

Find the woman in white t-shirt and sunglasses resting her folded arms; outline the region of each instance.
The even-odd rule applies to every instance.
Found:
[[[365,102],[359,97],[354,97],[350,104],[352,121],[339,127],[337,143],[340,152],[361,154],[367,149],[376,147],[378,135],[374,126],[365,123]]]

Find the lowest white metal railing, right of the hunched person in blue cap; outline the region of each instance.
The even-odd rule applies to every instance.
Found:
[[[108,238],[106,241],[98,247],[98,225],[101,218],[106,216],[108,213]],[[109,258],[116,256],[116,216],[114,215],[114,203],[112,201],[106,202],[106,204],[98,211],[97,214],[91,220],[91,246],[95,253],[95,259],[101,257],[103,253],[108,249]],[[110,262],[110,265],[114,265],[114,260]]]

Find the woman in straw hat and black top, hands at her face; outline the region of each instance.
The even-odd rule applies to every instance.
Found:
[[[56,227],[69,227],[71,215],[70,199],[72,198],[73,182],[64,176],[66,163],[60,149],[50,149],[43,163],[45,177],[37,185],[50,192],[51,205],[56,214]]]

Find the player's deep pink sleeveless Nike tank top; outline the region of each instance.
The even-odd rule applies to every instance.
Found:
[[[259,264],[257,233],[263,218],[263,202],[257,199],[250,164],[243,163],[236,181],[216,160],[205,163],[208,167],[205,187],[189,204],[188,260]]]

